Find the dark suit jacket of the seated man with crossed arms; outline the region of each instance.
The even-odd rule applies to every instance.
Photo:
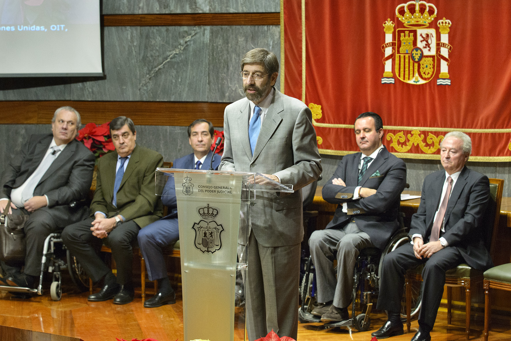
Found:
[[[351,219],[355,219],[357,227],[369,235],[371,243],[383,249],[399,228],[400,195],[406,184],[406,165],[403,160],[390,154],[384,146],[358,183],[361,156],[362,153],[344,156],[334,175],[323,186],[323,199],[339,204],[327,228],[342,228]],[[346,186],[334,185],[334,178],[341,178]],[[357,186],[377,191],[367,198],[353,200]],[[342,211],[344,202],[347,202],[349,214]]]

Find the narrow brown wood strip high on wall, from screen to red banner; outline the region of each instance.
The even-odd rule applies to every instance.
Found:
[[[104,26],[280,25],[280,13],[107,14]]]

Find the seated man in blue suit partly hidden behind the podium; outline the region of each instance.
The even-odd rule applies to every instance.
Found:
[[[175,159],[172,168],[181,169],[210,169],[213,158],[213,169],[218,169],[220,155],[213,154],[213,124],[205,119],[197,119],[188,126],[188,141],[193,153]],[[138,232],[138,246],[146,261],[149,280],[158,281],[158,292],[144,302],[144,307],[154,308],[176,302],[176,295],[170,286],[167,267],[161,248],[175,243],[179,239],[177,225],[177,202],[174,177],[169,177],[165,184],[161,201],[169,207],[168,215]]]

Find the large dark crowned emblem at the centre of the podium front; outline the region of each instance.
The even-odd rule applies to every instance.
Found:
[[[206,207],[200,207],[197,212],[202,219],[192,226],[195,230],[195,247],[203,253],[214,253],[220,250],[222,247],[220,235],[224,228],[221,224],[217,224],[217,222],[214,221],[216,216],[218,216],[218,208],[211,207],[210,204],[207,204]]]

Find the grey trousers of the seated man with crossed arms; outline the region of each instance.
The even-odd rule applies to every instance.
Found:
[[[316,269],[317,301],[333,301],[345,308],[352,301],[354,267],[360,250],[373,244],[367,233],[354,222],[342,229],[314,231],[309,239],[312,262]],[[337,257],[337,278],[334,259]]]

